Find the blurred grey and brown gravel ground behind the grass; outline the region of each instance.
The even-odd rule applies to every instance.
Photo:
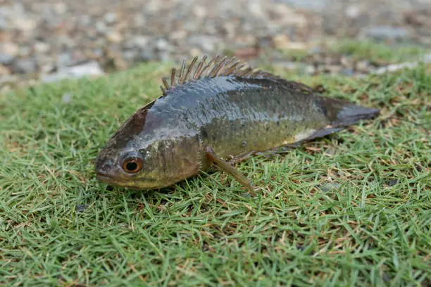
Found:
[[[307,74],[387,63],[349,49],[429,47],[430,0],[0,0],[0,84],[235,55]],[[343,41],[344,49],[328,52]],[[350,45],[350,46],[349,46]],[[298,57],[301,55],[301,57]]]

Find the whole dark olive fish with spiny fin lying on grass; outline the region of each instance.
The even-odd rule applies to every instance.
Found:
[[[163,189],[218,167],[254,195],[257,187],[236,162],[301,145],[380,113],[317,94],[235,57],[194,57],[187,65],[184,59],[161,83],[161,95],[137,109],[96,156],[99,181]]]

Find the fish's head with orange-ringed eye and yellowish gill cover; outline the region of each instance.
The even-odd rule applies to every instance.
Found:
[[[138,110],[97,155],[96,178],[131,189],[161,189],[196,174],[199,141],[178,133]]]

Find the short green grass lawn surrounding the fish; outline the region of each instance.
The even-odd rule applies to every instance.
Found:
[[[301,77],[382,115],[239,164],[258,198],[223,172],[109,191],[94,157],[167,70],[0,96],[0,286],[430,286],[430,68]]]

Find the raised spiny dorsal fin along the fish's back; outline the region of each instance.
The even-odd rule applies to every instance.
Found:
[[[271,74],[264,70],[256,70],[244,63],[242,60],[238,60],[235,57],[227,58],[215,56],[208,64],[206,64],[207,56],[203,56],[202,59],[197,63],[198,57],[194,57],[189,65],[186,65],[185,60],[182,60],[180,70],[172,68],[170,71],[170,81],[165,77],[162,78],[163,86],[160,89],[163,95],[169,89],[173,89],[177,84],[185,84],[187,82],[196,81],[197,79],[203,79],[206,77],[222,77],[222,76],[237,76],[237,77],[268,77],[278,79],[279,77]],[[196,64],[197,63],[197,64]]]

